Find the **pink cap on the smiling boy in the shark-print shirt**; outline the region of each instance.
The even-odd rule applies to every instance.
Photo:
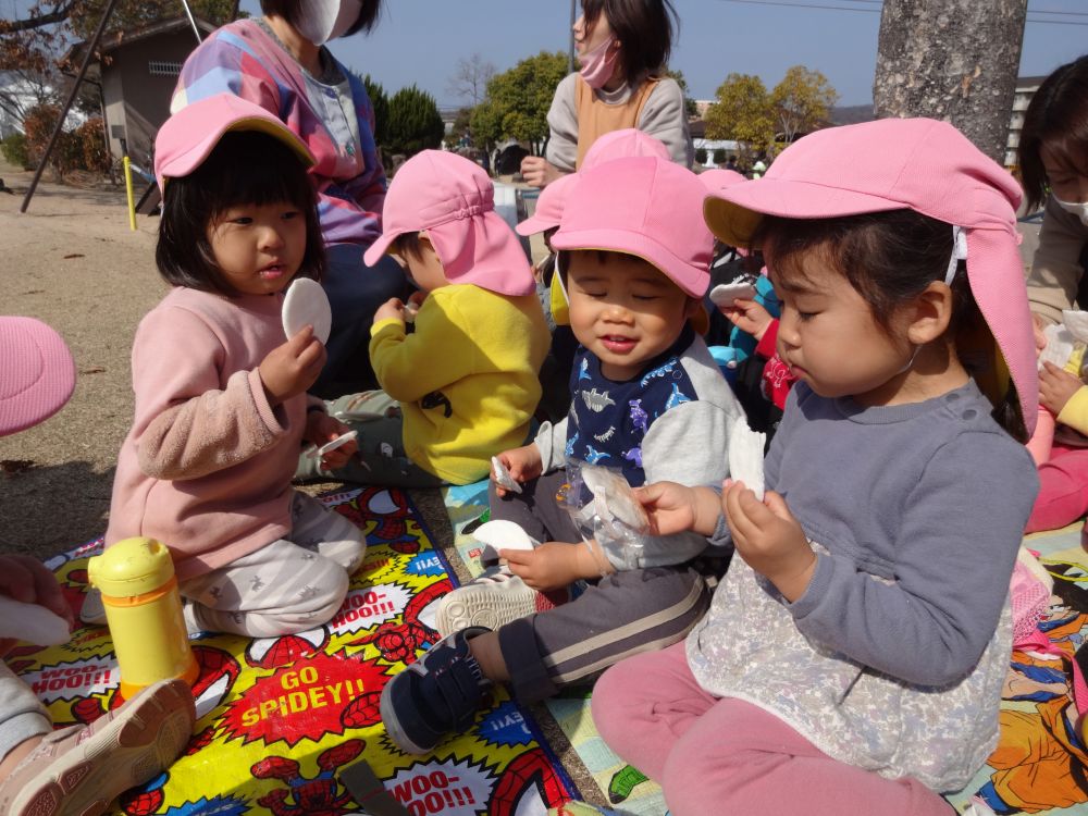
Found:
[[[692,297],[710,282],[714,236],[701,218],[706,188],[658,158],[616,159],[578,173],[556,249],[610,249],[654,264]]]

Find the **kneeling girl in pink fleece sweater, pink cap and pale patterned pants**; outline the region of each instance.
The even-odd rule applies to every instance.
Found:
[[[323,343],[312,325],[285,337],[281,314],[292,280],[324,269],[311,162],[280,120],[228,94],[186,106],[156,137],[156,261],[172,288],[133,342],[136,416],[106,546],[146,535],[170,547],[190,632],[312,629],[362,561],[360,530],[292,486],[302,443],[347,430],[306,393]]]

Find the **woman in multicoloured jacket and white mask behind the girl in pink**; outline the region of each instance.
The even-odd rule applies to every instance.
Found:
[[[373,267],[363,251],[382,233],[385,171],[374,112],[361,79],[325,48],[373,28],[382,0],[261,0],[264,16],[230,23],[182,67],[171,112],[215,94],[235,94],[280,119],[316,158],[329,263],[322,285],[333,308],[329,360],[312,391],[326,397],[374,387],[368,344],[378,307],[406,294],[396,261]]]

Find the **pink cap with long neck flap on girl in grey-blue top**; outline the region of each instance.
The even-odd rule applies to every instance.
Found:
[[[1019,201],[1015,180],[952,125],[885,119],[805,136],[762,178],[707,198],[703,212],[731,246],[746,246],[765,214],[825,219],[911,209],[962,227],[967,281],[1030,433],[1039,381],[1016,232]]]

